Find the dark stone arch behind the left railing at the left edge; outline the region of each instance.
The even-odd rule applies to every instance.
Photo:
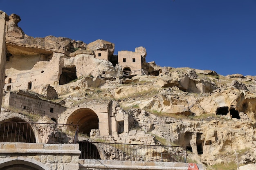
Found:
[[[36,143],[35,127],[19,117],[9,117],[0,121],[0,142]]]

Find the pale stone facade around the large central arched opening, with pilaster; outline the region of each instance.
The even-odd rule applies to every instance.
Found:
[[[59,119],[62,124],[78,124],[79,131],[90,135],[92,129],[99,129],[99,136],[118,136],[119,122],[122,122],[121,132],[129,132],[129,118],[115,102],[100,104],[85,103],[78,107],[67,108]]]

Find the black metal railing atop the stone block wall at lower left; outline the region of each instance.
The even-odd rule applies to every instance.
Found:
[[[76,144],[78,125],[0,122],[0,142]]]

